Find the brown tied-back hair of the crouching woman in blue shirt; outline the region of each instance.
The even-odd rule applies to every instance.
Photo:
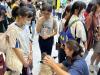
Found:
[[[78,55],[81,56],[81,54],[83,52],[83,49],[78,44],[77,41],[75,41],[75,40],[69,40],[69,41],[66,42],[66,45],[69,48],[69,50],[73,50],[74,51],[72,57],[77,57]]]

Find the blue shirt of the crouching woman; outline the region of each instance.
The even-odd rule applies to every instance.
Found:
[[[88,67],[84,59],[76,58],[73,64],[69,64],[67,60],[62,63],[67,67],[71,75],[89,75]]]

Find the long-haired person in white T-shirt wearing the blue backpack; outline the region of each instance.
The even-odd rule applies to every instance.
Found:
[[[70,27],[71,33],[76,39],[76,41],[82,46],[84,52],[87,49],[87,37],[86,37],[86,31],[83,23],[81,22],[79,15],[81,13],[81,2],[76,1],[71,8],[71,18],[68,22],[68,25],[70,25],[72,22],[77,20],[75,23],[72,24]]]

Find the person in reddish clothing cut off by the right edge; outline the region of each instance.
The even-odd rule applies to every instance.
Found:
[[[100,62],[100,0],[97,0],[96,9],[93,13],[93,24],[94,24],[94,53],[91,57],[90,72],[98,71],[98,64]],[[95,62],[96,60],[96,62]],[[95,62],[95,65],[93,65]]]

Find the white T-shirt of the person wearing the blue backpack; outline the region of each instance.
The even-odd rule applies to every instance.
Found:
[[[76,15],[72,15],[72,17],[69,20],[69,24],[70,25],[73,21],[78,20],[79,17],[77,17]],[[79,20],[77,22],[75,22],[72,26],[71,26],[71,33],[72,35],[75,37],[75,29],[76,29],[76,37],[80,38],[80,45],[82,46],[82,48],[84,49],[84,44],[83,42],[87,41],[86,38],[86,32],[83,26],[83,23]]]

